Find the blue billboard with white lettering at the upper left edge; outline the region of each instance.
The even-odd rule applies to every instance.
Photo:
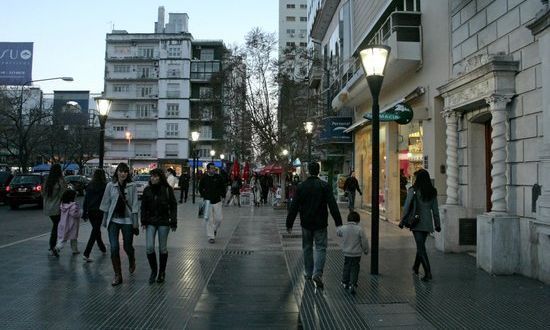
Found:
[[[0,85],[32,80],[32,42],[0,42]]]

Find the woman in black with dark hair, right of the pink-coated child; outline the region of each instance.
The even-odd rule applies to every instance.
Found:
[[[94,243],[97,242],[97,247],[103,253],[107,253],[107,248],[101,239],[101,221],[103,220],[103,212],[99,209],[101,205],[101,199],[103,198],[103,193],[105,192],[105,187],[107,182],[105,180],[105,171],[102,169],[97,169],[94,172],[92,181],[86,187],[86,196],[84,197],[84,206],[82,208],[82,219],[90,220],[92,225],[92,232],[90,233],[90,238],[88,239],[88,244],[84,250],[83,258],[84,261],[90,262],[90,253]]]

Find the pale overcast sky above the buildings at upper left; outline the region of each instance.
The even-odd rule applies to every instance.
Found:
[[[187,13],[195,39],[242,44],[254,27],[277,33],[278,0],[26,0],[3,1],[0,41],[34,42],[33,79],[44,92],[103,89],[105,34],[115,30],[152,33],[159,6]]]

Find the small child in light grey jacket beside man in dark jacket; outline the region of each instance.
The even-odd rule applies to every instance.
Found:
[[[338,236],[343,237],[342,250],[344,252],[344,271],[342,273],[342,286],[355,294],[357,278],[359,277],[359,263],[361,254],[369,253],[369,242],[363,228],[359,226],[359,213],[350,212],[348,223],[342,226]]]

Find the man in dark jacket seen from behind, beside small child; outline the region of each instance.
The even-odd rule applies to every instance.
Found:
[[[328,183],[319,179],[319,164],[308,165],[309,175],[296,188],[296,194],[286,217],[287,232],[292,231],[296,215],[300,212],[302,226],[302,246],[304,254],[304,276],[313,279],[316,287],[323,287],[323,269],[327,254],[328,211],[334,219],[337,229],[342,226],[342,217]],[[315,242],[315,258],[313,256]]]

